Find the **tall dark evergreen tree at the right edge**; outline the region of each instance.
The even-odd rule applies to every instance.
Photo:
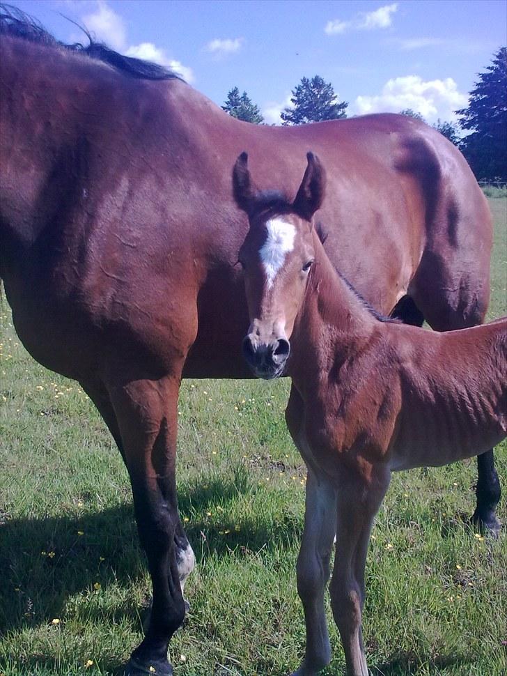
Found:
[[[460,148],[476,178],[507,180],[507,47],[478,77],[468,107],[456,111],[462,129],[471,132]]]

